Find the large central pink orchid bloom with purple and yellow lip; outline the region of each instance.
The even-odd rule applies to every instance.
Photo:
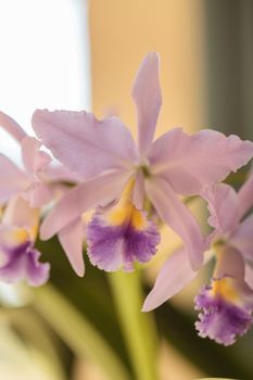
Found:
[[[37,110],[33,116],[34,130],[42,143],[85,178],[45,219],[41,239],[51,238],[96,208],[87,229],[88,254],[105,270],[122,266],[130,270],[134,261],[146,262],[154,254],[159,235],[143,213],[146,198],[180,236],[191,267],[198,269],[205,242],[177,194],[199,194],[204,186],[219,182],[253,155],[252,142],[213,130],[188,136],[175,128],[153,141],[162,105],[159,69],[159,55],[149,53],[135,79],[137,144],[117,117],[98,121],[87,112],[47,110]]]

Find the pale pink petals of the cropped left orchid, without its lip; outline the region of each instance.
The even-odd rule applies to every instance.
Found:
[[[22,169],[0,154],[0,204],[20,197],[26,200],[31,208],[42,207],[58,195],[59,190],[61,193],[68,190],[60,183],[61,181],[80,180],[80,176],[63,165],[55,166],[50,155],[41,150],[41,143],[36,138],[27,136],[13,118],[2,112],[0,112],[0,125],[20,142],[24,164]],[[77,275],[84,276],[81,218],[77,217],[66,224],[59,230],[58,237],[74,270]]]

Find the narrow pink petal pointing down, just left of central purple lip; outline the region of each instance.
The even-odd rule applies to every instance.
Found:
[[[61,229],[58,237],[73,269],[78,276],[83,277],[85,274],[85,263],[83,257],[84,230],[81,219],[77,218],[71,221],[66,227]]]

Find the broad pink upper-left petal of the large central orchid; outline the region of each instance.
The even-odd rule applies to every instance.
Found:
[[[116,117],[98,121],[86,112],[45,110],[35,112],[33,126],[53,155],[86,179],[136,160],[132,137]]]

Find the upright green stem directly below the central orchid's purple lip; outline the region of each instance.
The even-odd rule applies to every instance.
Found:
[[[141,313],[140,274],[118,271],[109,280],[136,379],[156,380],[156,332],[151,314]]]

